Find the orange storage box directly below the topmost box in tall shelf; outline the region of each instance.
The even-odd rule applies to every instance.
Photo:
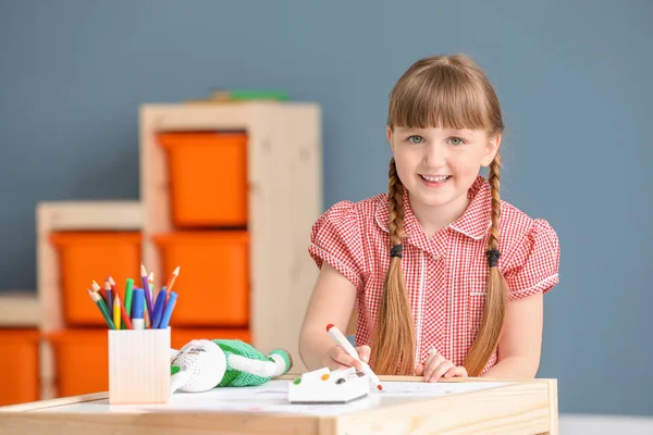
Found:
[[[170,320],[181,326],[246,326],[249,323],[249,236],[246,232],[156,235],[163,276],[181,266]]]

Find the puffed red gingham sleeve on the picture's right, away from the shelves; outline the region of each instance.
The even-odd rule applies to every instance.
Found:
[[[504,273],[508,299],[551,290],[559,281],[559,243],[553,227],[544,220],[533,220]]]

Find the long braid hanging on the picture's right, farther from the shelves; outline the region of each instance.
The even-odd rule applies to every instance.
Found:
[[[501,157],[497,152],[492,163],[490,163],[490,174],[488,177],[492,192],[492,226],[490,227],[490,235],[488,237],[486,251],[490,265],[488,297],[481,320],[481,327],[465,361],[465,368],[470,376],[479,376],[492,355],[496,351],[505,316],[507,285],[497,266],[500,258],[498,221],[501,217],[500,177]]]

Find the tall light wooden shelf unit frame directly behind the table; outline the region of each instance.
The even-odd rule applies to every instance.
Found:
[[[311,225],[322,212],[321,109],[285,101],[141,107],[143,258],[157,279],[168,279],[171,271],[161,270],[151,237],[175,228],[165,150],[156,135],[194,130],[247,134],[249,328],[257,349],[283,348],[293,356],[293,370],[303,371],[297,338],[318,274],[307,248]]]

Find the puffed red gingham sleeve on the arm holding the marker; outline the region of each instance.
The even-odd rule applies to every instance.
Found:
[[[324,261],[349,279],[358,291],[364,288],[365,257],[356,206],[350,201],[333,204],[311,228],[309,254],[318,268]]]

